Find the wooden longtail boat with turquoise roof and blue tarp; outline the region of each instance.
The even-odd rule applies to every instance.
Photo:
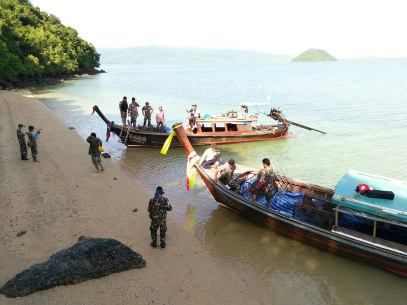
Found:
[[[187,155],[196,154],[183,126],[175,124],[173,129]],[[214,183],[214,169],[205,170],[197,164],[195,168],[216,201],[259,225],[304,244],[407,276],[407,182],[349,171],[332,190],[286,178],[272,162],[278,191],[267,208],[252,201],[250,193],[245,194],[250,189],[244,189],[245,183],[255,179],[253,168],[236,164],[235,181],[243,182],[241,194],[219,180]],[[392,191],[395,197],[362,196],[355,191],[360,183]],[[285,210],[284,194],[299,196]],[[277,196],[282,204],[275,200]]]

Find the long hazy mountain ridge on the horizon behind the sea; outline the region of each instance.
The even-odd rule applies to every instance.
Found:
[[[101,63],[207,63],[291,61],[293,55],[232,49],[176,48],[162,46],[98,48]]]

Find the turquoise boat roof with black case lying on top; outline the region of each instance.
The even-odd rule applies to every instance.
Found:
[[[357,195],[356,187],[364,183],[375,190],[392,191],[394,199],[377,199]],[[407,223],[407,182],[366,174],[347,172],[336,185],[334,204],[357,211]]]

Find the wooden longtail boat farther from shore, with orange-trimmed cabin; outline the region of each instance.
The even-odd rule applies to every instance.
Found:
[[[93,111],[96,111],[106,124],[111,123],[98,106],[94,106]],[[252,126],[253,122],[257,122],[257,116],[239,116],[237,112],[232,112],[228,117],[199,118],[194,130],[186,131],[186,134],[192,145],[264,141],[289,136],[288,124]],[[131,126],[113,122],[110,130],[117,134],[119,141],[127,147],[162,147],[169,135],[169,132],[162,132],[156,126],[138,125],[137,128],[135,130]],[[174,137],[170,146],[181,146],[181,144]]]

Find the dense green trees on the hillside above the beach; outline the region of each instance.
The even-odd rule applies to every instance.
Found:
[[[95,47],[28,0],[0,0],[0,79],[56,76],[99,66]]]

